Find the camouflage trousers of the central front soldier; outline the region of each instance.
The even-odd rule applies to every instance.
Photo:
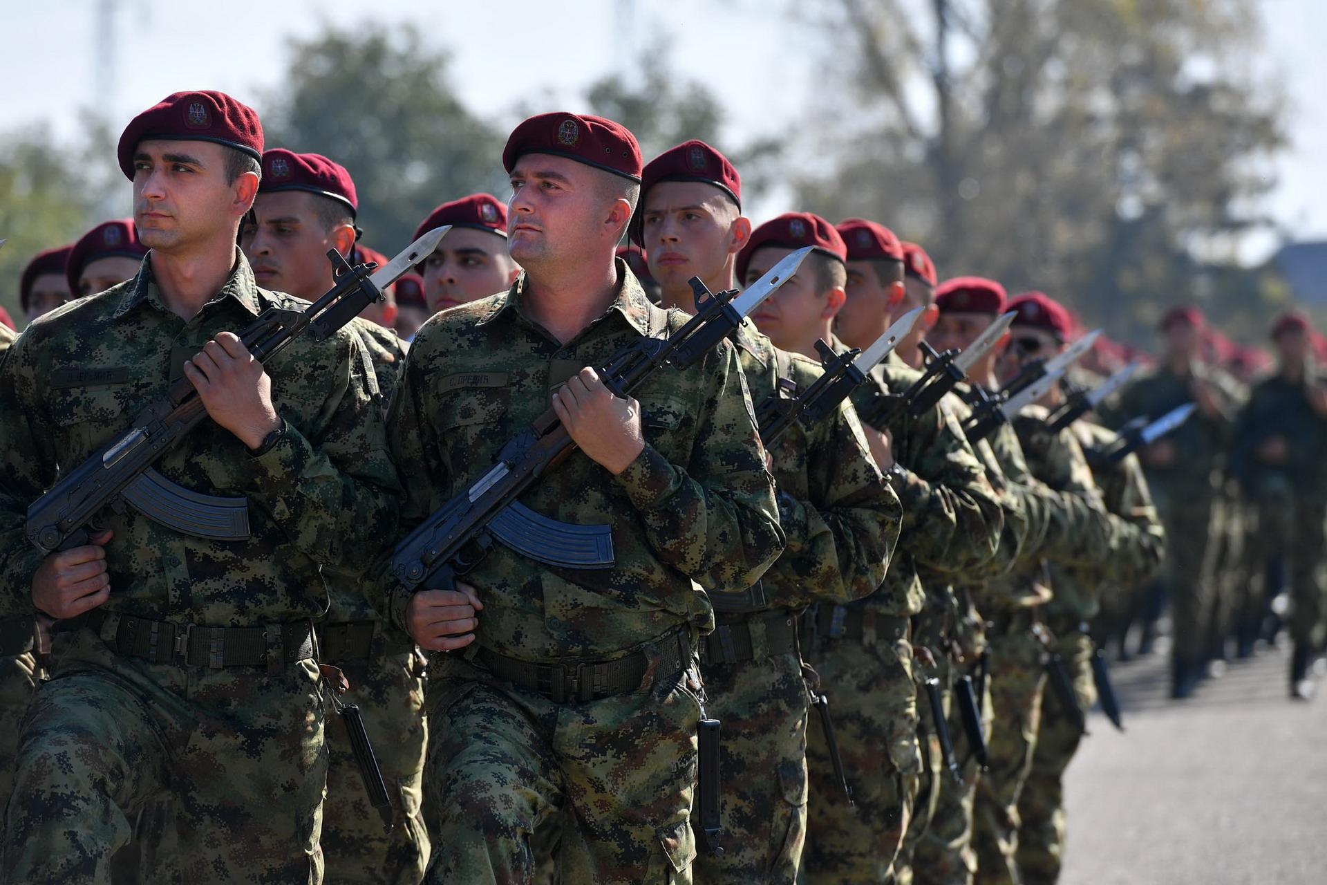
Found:
[[[689,884],[698,687],[685,673],[660,674],[648,689],[555,703],[462,657],[435,657],[425,881],[531,882],[537,832],[556,835],[543,843],[553,881]]]

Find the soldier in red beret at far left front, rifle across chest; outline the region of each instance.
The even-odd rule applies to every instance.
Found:
[[[179,853],[143,847],[163,880],[321,878],[318,567],[374,552],[398,487],[353,333],[300,338],[269,374],[230,332],[300,306],[257,288],[235,245],[261,149],[257,114],[223,93],[174,93],[135,117],[118,159],[151,251],[133,280],[36,322],[0,370],[5,609],[65,621],[24,720],[7,881],[109,881],[134,815],[163,796]],[[90,544],[42,557],[24,537],[28,504],[179,377],[211,421],[155,467],[245,496],[248,537],[199,539],[126,508],[98,517]]]

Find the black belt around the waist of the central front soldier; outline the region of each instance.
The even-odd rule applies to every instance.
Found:
[[[654,679],[691,666],[691,644],[686,630],[658,640],[650,649],[658,655]],[[475,659],[499,679],[537,691],[553,703],[585,703],[645,689],[648,686],[642,683],[650,669],[650,657],[645,651],[633,651],[610,661],[536,663],[479,649]]]

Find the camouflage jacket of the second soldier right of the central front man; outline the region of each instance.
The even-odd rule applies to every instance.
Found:
[[[836,341],[835,348],[843,345]],[[869,414],[881,397],[902,394],[920,375],[890,354],[853,391],[852,402]],[[947,586],[958,576],[986,568],[999,545],[1003,512],[962,427],[946,409],[937,406],[916,417],[904,413],[877,430],[889,431],[894,460],[908,471],[898,490],[904,525],[884,585],[859,605],[910,616],[925,600],[920,571],[928,582]]]

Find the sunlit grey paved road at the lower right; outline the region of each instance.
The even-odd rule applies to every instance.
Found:
[[[1287,698],[1269,650],[1166,697],[1164,654],[1115,665],[1125,734],[1100,713],[1070,766],[1064,885],[1327,882],[1327,681]]]

